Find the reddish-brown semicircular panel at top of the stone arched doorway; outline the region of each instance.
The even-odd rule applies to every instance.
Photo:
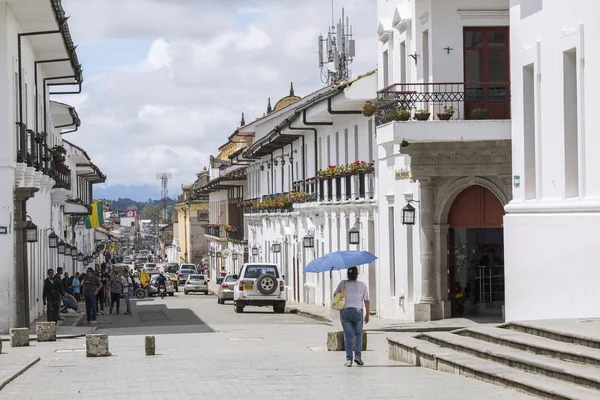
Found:
[[[502,228],[504,207],[483,186],[473,185],[454,200],[448,214],[450,228]]]

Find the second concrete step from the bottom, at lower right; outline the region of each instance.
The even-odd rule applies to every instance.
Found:
[[[524,372],[563,380],[591,389],[600,389],[600,368],[595,366],[579,365],[550,357],[537,356],[526,351],[450,332],[424,333],[417,336],[417,338]],[[600,398],[600,391],[598,392],[598,398]]]

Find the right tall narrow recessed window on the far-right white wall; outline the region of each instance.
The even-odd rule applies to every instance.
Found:
[[[577,52],[563,53],[563,106],[565,141],[565,196],[579,196],[579,140],[577,118]]]

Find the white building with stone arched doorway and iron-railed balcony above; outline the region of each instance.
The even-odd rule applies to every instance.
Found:
[[[509,1],[378,0],[377,8],[379,315],[501,315]],[[403,225],[411,201],[416,221]]]

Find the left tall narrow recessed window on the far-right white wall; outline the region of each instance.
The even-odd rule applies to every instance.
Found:
[[[523,133],[524,143],[524,189],[525,199],[536,197],[535,157],[535,80],[533,64],[523,67]]]

